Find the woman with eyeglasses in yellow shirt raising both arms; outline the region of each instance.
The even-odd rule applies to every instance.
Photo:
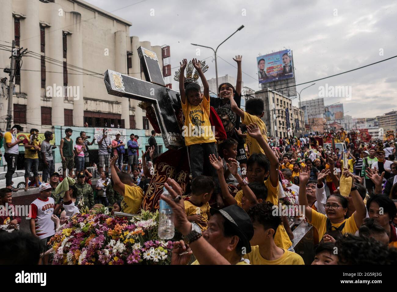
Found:
[[[344,176],[353,176],[351,172],[346,170]],[[352,184],[350,195],[356,211],[347,218],[348,201],[346,197],[340,194],[331,194],[324,204],[326,215],[321,214],[308,205],[305,194],[306,182],[309,180],[310,173],[307,169],[299,175],[299,204],[305,207],[305,217],[307,221],[316,228],[319,238],[322,238],[327,231],[339,230],[342,234],[355,234],[362,224],[362,220],[366,216],[366,208],[357,187]]]

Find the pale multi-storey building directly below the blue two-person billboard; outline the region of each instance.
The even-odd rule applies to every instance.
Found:
[[[270,88],[266,91],[256,91],[256,98],[264,101],[264,116],[262,120],[268,129],[268,135],[273,137],[288,137],[299,134],[295,127],[292,99]],[[303,115],[303,113],[302,113]],[[291,128],[290,131],[288,129]]]

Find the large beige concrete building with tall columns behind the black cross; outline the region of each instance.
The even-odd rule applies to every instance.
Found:
[[[131,22],[82,0],[0,0],[0,6],[0,44],[10,48],[15,39],[17,48],[29,50],[16,80],[12,123],[40,132],[84,122],[152,130],[138,101],[108,95],[103,73],[111,69],[145,79],[137,48],[156,52],[162,68],[161,46],[130,37]],[[10,66],[10,55],[0,50],[2,68]],[[9,78],[4,72],[0,77]],[[0,94],[3,117],[7,91]],[[6,128],[3,119],[0,128]]]

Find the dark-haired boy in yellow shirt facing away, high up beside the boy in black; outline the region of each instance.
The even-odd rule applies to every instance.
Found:
[[[237,103],[234,101],[233,97],[230,95],[230,105],[231,110],[235,112],[241,118],[241,122],[245,125],[249,125],[250,123],[258,126],[260,133],[265,139],[266,143],[268,141],[268,130],[266,129],[265,123],[262,121],[262,116],[264,115],[264,104],[261,99],[249,99],[245,103],[245,110],[241,110],[237,106]],[[260,147],[258,141],[251,137],[251,135],[247,135],[247,147],[249,150],[249,155],[251,156],[254,153],[265,153],[262,147]]]

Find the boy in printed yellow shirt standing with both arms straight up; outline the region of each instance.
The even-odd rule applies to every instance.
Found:
[[[181,105],[183,115],[185,116],[185,125],[182,127],[182,135],[185,138],[185,145],[189,149],[189,159],[191,165],[191,172],[193,178],[206,174],[212,177],[215,183],[214,193],[219,202],[222,201],[218,183],[218,176],[215,169],[208,163],[208,157],[211,154],[216,154],[216,139],[212,131],[210,123],[210,91],[207,79],[202,71],[200,61],[192,60],[193,67],[196,68],[195,75],[201,78],[204,87],[203,94],[201,93],[200,85],[198,85],[195,78],[191,78],[193,68],[189,64],[187,70],[188,79],[185,79],[185,68],[187,60],[183,59],[180,63],[179,70],[179,91],[181,96]],[[204,68],[205,71],[206,68]],[[189,82],[191,81],[191,82]],[[204,171],[206,170],[206,171]],[[207,173],[204,173],[207,172]]]

